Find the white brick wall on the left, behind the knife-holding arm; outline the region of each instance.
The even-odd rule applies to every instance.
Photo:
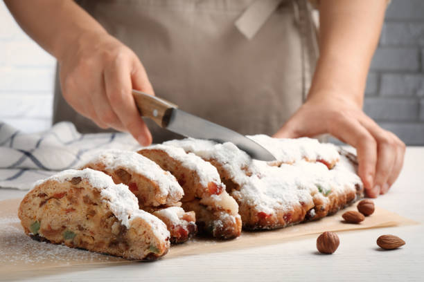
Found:
[[[0,121],[35,132],[51,126],[55,58],[19,28],[0,1]]]

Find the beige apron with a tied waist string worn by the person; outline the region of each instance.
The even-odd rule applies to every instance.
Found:
[[[316,46],[306,1],[79,3],[140,57],[157,96],[239,133],[272,135],[309,88]],[[56,76],[53,122],[101,131],[64,101]],[[148,126],[154,142],[176,137]]]

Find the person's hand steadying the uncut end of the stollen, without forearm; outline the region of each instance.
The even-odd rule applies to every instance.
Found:
[[[313,95],[274,135],[312,137],[330,133],[357,149],[358,173],[367,196],[385,194],[403,166],[405,144],[382,129],[357,106],[339,95]]]

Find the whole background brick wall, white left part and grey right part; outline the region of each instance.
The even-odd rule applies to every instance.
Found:
[[[27,132],[51,125],[55,59],[0,1],[0,120]],[[424,145],[424,1],[392,0],[366,83],[364,111],[407,144]]]

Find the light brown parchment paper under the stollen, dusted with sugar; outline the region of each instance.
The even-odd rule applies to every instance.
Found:
[[[64,245],[53,245],[34,241],[24,234],[17,209],[19,199],[0,201],[0,274],[40,269],[43,267],[63,267],[67,265],[98,265],[103,267],[112,263],[129,263],[128,261],[104,254],[85,250],[76,250]],[[414,220],[404,218],[393,212],[376,207],[376,212],[367,216],[360,224],[348,224],[342,220],[346,210],[356,209],[356,205],[343,209],[333,216],[321,220],[302,223],[283,229],[262,232],[242,232],[235,240],[215,241],[210,238],[194,238],[182,245],[173,245],[163,259],[179,256],[206,254],[245,249],[260,245],[283,243],[298,240],[324,231],[342,232],[355,229],[369,229],[399,225],[417,224]]]

